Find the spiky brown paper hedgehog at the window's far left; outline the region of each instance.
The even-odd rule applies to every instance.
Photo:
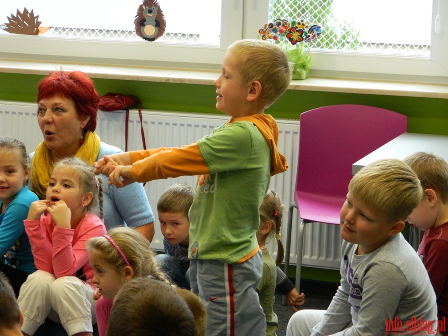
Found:
[[[6,28],[3,30],[11,34],[25,34],[25,35],[40,35],[47,32],[49,27],[41,27],[42,22],[38,21],[39,15],[34,16],[33,10],[31,12],[24,8],[23,12],[17,9],[17,14],[11,17],[7,16],[8,23],[5,23]]]

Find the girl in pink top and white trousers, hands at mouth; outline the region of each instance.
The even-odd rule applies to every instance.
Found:
[[[90,336],[95,286],[85,244],[106,233],[103,221],[90,212],[99,199],[101,213],[102,185],[84,161],[66,158],[55,164],[45,198],[31,203],[24,221],[37,271],[20,289],[21,330],[33,335],[48,317],[68,335]]]

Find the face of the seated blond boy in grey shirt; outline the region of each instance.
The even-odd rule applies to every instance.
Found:
[[[370,253],[384,244],[393,235],[392,225],[381,211],[366,206],[348,192],[340,210],[340,235],[359,245],[357,254]]]

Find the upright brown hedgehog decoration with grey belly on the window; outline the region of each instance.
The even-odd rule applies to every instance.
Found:
[[[157,0],[143,0],[134,19],[135,32],[146,41],[155,41],[163,35],[165,16]]]

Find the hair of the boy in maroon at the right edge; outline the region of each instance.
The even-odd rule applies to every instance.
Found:
[[[425,152],[409,155],[404,161],[414,170],[423,189],[433,189],[442,203],[448,202],[448,163],[442,157]]]

